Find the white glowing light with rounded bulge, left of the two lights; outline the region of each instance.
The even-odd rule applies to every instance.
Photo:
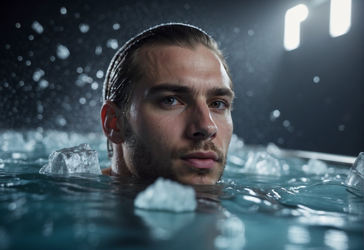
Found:
[[[287,51],[300,46],[300,24],[306,19],[308,9],[303,4],[290,8],[284,18],[284,48]]]

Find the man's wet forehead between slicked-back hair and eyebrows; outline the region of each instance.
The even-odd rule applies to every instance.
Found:
[[[147,81],[143,81],[142,85],[147,88],[161,83],[195,88],[231,86],[221,60],[202,45],[194,50],[179,46],[148,45],[142,48],[141,57],[148,71]]]

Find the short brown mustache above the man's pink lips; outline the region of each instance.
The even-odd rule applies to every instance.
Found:
[[[194,141],[188,146],[174,149],[171,159],[177,160],[187,153],[201,150],[215,152],[218,155],[218,161],[225,164],[226,159],[224,153],[212,141]]]

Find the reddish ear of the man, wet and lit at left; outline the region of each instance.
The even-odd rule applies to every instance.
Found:
[[[101,123],[105,136],[115,144],[122,144],[125,137],[124,117],[112,101],[104,101],[101,107]]]

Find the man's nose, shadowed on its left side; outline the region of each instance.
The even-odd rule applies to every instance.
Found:
[[[187,137],[195,140],[213,140],[217,136],[217,126],[206,103],[194,106],[190,112]]]

